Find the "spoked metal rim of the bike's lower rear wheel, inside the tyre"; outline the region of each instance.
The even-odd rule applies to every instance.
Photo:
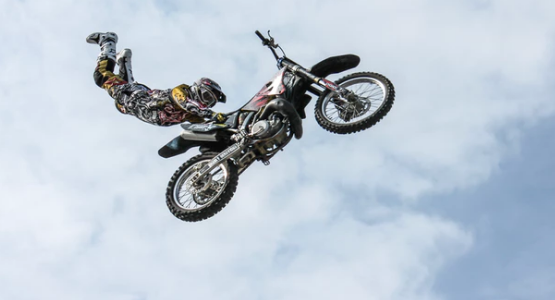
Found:
[[[191,180],[210,160],[199,161],[187,168],[177,179],[173,191],[175,204],[185,211],[198,211],[210,206],[222,195],[229,181],[229,170],[224,164],[216,166],[198,184]]]

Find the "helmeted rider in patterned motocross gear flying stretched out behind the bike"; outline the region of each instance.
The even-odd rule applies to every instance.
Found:
[[[211,108],[217,102],[225,103],[226,96],[220,86],[209,78],[200,78],[192,85],[181,84],[173,89],[157,90],[137,83],[131,71],[131,50],[123,49],[116,55],[118,36],[113,32],[95,32],[87,43],[100,46],[94,71],[96,85],[108,91],[116,108],[140,120],[159,126],[170,126],[185,121],[204,122],[211,119],[224,122],[225,116]],[[114,68],[119,65],[119,74]]]

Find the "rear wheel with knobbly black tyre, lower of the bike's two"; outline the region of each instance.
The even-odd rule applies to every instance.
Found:
[[[232,162],[222,162],[197,183],[192,183],[198,171],[216,155],[204,153],[189,159],[170,179],[166,204],[178,219],[187,222],[208,219],[222,210],[233,197],[239,175]]]

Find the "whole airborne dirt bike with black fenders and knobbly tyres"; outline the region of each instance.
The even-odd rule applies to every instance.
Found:
[[[169,210],[183,221],[201,221],[218,213],[233,197],[239,175],[253,162],[268,165],[293,137],[302,137],[305,107],[312,99],[307,92],[318,96],[314,111],[318,124],[338,134],[375,125],[393,105],[395,91],[383,75],[360,72],[335,82],[326,79],[358,66],[358,56],[334,56],[305,69],[285,56],[270,31],[269,38],[255,33],[272,51],[279,72],[247,104],[226,114],[224,123],[181,124],[182,133],[158,151],[169,158],[199,147],[201,154],[179,167],[166,191]]]

